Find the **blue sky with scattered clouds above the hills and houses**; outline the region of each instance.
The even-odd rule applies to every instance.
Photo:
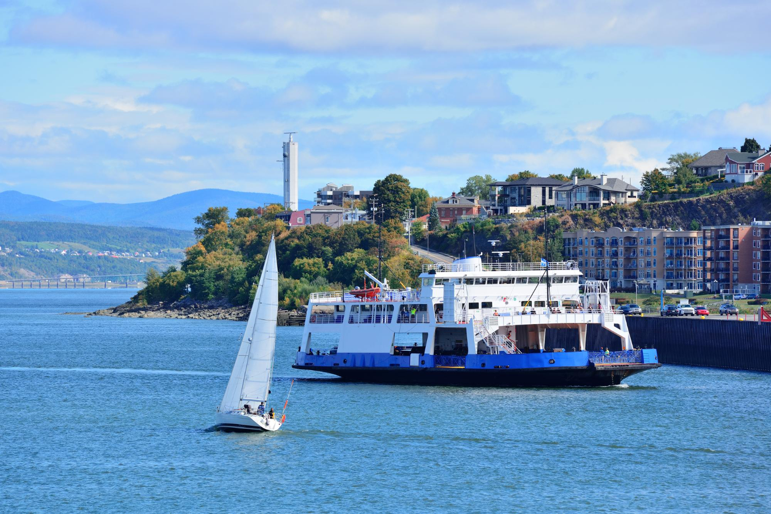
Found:
[[[0,0],[0,190],[128,203],[207,187],[449,196],[530,170],[639,184],[771,145],[771,2]]]

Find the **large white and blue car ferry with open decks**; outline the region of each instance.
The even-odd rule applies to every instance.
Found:
[[[507,387],[618,385],[661,366],[634,347],[608,282],[584,281],[574,261],[426,264],[419,289],[311,294],[293,368],[351,381]],[[581,291],[583,289],[583,291]],[[620,351],[587,351],[587,327],[618,336]],[[547,348],[546,331],[573,328]],[[564,338],[563,338],[564,340]]]

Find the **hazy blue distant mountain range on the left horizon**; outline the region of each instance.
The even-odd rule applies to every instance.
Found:
[[[117,227],[161,227],[191,230],[193,218],[209,207],[226,206],[235,216],[240,207],[263,207],[265,203],[283,203],[283,197],[270,193],[243,193],[204,189],[175,194],[153,202],[94,203],[87,200],[60,200],[3,191],[0,193],[0,220],[59,221],[92,223]],[[300,208],[312,202],[300,200]]]

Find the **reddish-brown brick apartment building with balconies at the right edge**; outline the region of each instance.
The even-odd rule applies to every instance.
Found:
[[[710,291],[769,292],[771,221],[703,227],[705,282]]]

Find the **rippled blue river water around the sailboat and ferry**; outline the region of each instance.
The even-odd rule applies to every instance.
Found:
[[[130,290],[0,290],[0,511],[769,512],[771,374],[608,388],[342,383],[291,368],[271,434],[212,429],[244,323],[83,317]]]

